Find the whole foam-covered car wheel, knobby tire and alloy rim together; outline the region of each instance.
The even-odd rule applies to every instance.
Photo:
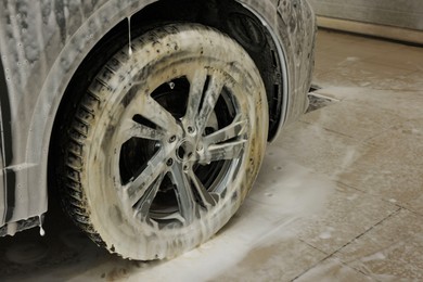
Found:
[[[267,140],[266,91],[232,39],[166,25],[104,62],[67,126],[65,209],[125,258],[171,258],[238,210]]]

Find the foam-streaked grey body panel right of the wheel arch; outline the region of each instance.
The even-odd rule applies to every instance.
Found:
[[[279,56],[285,68],[285,108],[280,128],[297,120],[308,105],[306,93],[311,84],[316,20],[307,1],[240,1],[264,21],[280,44]],[[274,13],[277,11],[277,13]],[[311,27],[311,28],[310,28]],[[287,55],[292,54],[292,55]],[[281,130],[279,130],[280,132]],[[273,137],[273,139],[277,136]]]

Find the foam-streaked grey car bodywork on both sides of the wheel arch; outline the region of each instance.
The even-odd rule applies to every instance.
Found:
[[[63,93],[94,44],[155,0],[0,2],[0,235],[42,221],[48,152]],[[307,107],[315,16],[305,0],[238,0],[274,40],[282,66],[280,127]],[[275,136],[270,137],[274,139]]]

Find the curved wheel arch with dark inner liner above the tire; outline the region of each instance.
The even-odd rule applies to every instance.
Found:
[[[127,33],[128,28],[128,15],[131,15],[131,25],[138,22],[144,26],[159,24],[161,22],[196,22],[215,27],[230,37],[235,39],[244,49],[251,54],[256,62],[261,76],[267,78],[265,81],[268,103],[269,103],[269,138],[271,141],[280,129],[280,125],[285,117],[285,111],[287,107],[287,72],[285,65],[285,50],[281,46],[280,41],[272,28],[273,25],[265,22],[265,18],[270,16],[260,9],[253,5],[243,3],[241,0],[213,0],[213,1],[195,1],[195,0],[150,0],[150,1],[108,1],[101,7],[98,11],[78,28],[77,33],[68,40],[64,47],[60,56],[56,59],[50,73],[54,76],[48,77],[46,80],[41,100],[38,101],[37,107],[38,115],[44,118],[44,134],[42,142],[42,152],[40,158],[44,162],[41,164],[48,164],[48,157],[52,157],[52,146],[54,144],[54,136],[60,134],[60,124],[63,118],[66,117],[68,106],[75,93],[68,90],[69,84],[72,84],[75,75],[80,74],[78,72],[84,64],[87,63],[87,56],[91,52],[94,52],[97,46],[101,44],[107,38],[113,37],[116,33]],[[267,2],[267,1],[266,1]],[[270,2],[269,2],[270,3]],[[179,8],[179,13],[175,13],[175,5]],[[183,8],[189,9],[188,13]],[[206,7],[206,9],[204,9]],[[116,10],[118,8],[118,10]],[[269,9],[268,9],[269,10]],[[267,11],[268,12],[268,11]],[[261,15],[261,13],[265,13]],[[275,11],[273,11],[274,18],[277,17]],[[234,26],[233,22],[230,22],[231,15],[236,14],[235,21],[242,25]],[[110,16],[106,16],[110,15]],[[107,18],[104,21],[104,18]],[[251,22],[252,21],[252,22]],[[236,24],[236,22],[235,22]],[[253,26],[253,27],[252,27]],[[251,27],[248,29],[248,27]],[[239,35],[238,31],[244,31],[246,34]],[[248,34],[251,33],[251,34]],[[261,33],[261,34],[258,34]],[[244,38],[243,38],[244,37]],[[256,43],[261,44],[259,40],[265,40],[266,52],[262,49],[257,49],[256,46],[248,46],[247,40],[243,39],[256,39]],[[77,51],[76,51],[77,50]],[[265,60],[266,59],[266,60]],[[62,77],[60,81],[54,79],[55,77]],[[55,94],[54,94],[55,93]],[[48,101],[46,103],[46,101]],[[46,104],[50,104],[50,111],[46,120]],[[33,118],[37,123],[38,118]],[[34,140],[29,138],[29,140]],[[29,144],[29,148],[37,148]],[[51,158],[50,158],[51,159]],[[41,168],[43,169],[43,168]],[[46,167],[46,169],[48,169]],[[48,176],[49,171],[40,171],[41,176]],[[48,179],[46,179],[47,183]]]

